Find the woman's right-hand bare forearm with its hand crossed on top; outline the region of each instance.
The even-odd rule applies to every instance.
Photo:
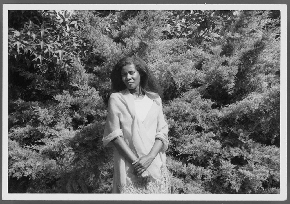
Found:
[[[157,156],[158,152],[160,152],[161,148],[163,147],[163,142],[156,138],[153,147],[151,148],[150,152],[146,156],[142,156],[132,163],[135,170],[138,172],[137,175],[142,174],[146,169],[151,165],[152,161]]]

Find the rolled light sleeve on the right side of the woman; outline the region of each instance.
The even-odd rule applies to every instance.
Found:
[[[161,101],[160,101],[161,104]],[[158,138],[163,142],[162,151],[165,152],[168,148],[169,140],[168,140],[168,125],[165,122],[162,105],[160,106],[158,118],[157,118],[157,131],[155,135],[155,139]]]

